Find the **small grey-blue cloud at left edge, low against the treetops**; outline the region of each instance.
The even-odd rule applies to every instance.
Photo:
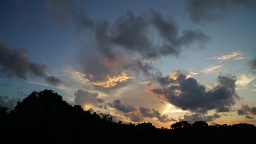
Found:
[[[18,101],[21,101],[21,99],[0,95],[0,106],[9,108],[9,111],[17,105]]]

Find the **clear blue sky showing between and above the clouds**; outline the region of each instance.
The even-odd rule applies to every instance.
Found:
[[[80,49],[79,35],[75,29],[60,29],[54,21],[53,13],[43,4],[42,0],[26,0],[23,3],[13,3],[9,0],[0,2],[0,36],[6,39],[11,48],[28,49],[28,57],[32,62],[44,63],[47,65],[47,72],[58,74],[59,69],[65,69],[70,65],[70,61],[75,61],[71,49]],[[159,63],[155,63],[164,75],[174,69],[192,69],[196,72],[208,65],[218,65],[218,60],[207,59],[222,54],[242,50],[244,57],[253,57],[253,47],[256,48],[256,14],[254,9],[232,8],[228,11],[226,19],[214,23],[195,24],[190,21],[188,14],[184,10],[184,3],[180,0],[78,0],[77,6],[85,7],[89,16],[93,20],[107,20],[113,23],[121,13],[132,10],[136,16],[148,16],[149,10],[160,11],[164,17],[173,16],[178,23],[179,32],[183,29],[200,29],[212,39],[205,44],[204,49],[197,49],[198,46],[184,48],[179,58],[168,56],[161,58]],[[255,5],[255,3],[253,3]],[[25,13],[27,20],[21,17]],[[30,22],[33,19],[42,20],[46,28],[36,29]],[[86,36],[84,36],[86,39]],[[250,47],[250,48],[249,48]],[[225,69],[232,73],[245,71],[236,69],[237,67],[248,68],[247,60],[233,62],[223,62]],[[230,67],[228,66],[230,65]],[[234,68],[234,65],[237,65]],[[235,71],[233,71],[235,70]],[[200,77],[197,77],[200,81]],[[13,84],[10,89],[24,87],[26,94],[33,90],[42,89],[41,85],[31,85],[20,79],[7,79],[1,77],[1,84],[10,82]],[[212,78],[216,79],[216,78]],[[7,88],[0,86],[2,94],[8,95]],[[60,90],[58,90],[60,92]],[[15,91],[10,92],[10,96]],[[64,94],[64,93],[63,93]]]

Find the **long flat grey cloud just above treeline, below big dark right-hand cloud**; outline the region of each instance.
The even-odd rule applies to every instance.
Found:
[[[195,121],[214,121],[221,116],[218,114],[213,115],[202,115],[200,113],[195,113],[192,115],[184,115],[184,118],[179,118],[179,121],[188,121],[188,123],[193,124]]]

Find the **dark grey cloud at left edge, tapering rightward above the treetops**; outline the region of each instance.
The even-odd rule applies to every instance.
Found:
[[[26,54],[26,49],[11,49],[3,39],[0,40],[0,72],[24,80],[30,74],[45,78],[47,82],[53,85],[61,82],[60,79],[46,74],[46,65],[31,62]]]

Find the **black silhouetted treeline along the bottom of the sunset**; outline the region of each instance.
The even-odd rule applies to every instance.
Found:
[[[1,142],[33,143],[203,143],[229,144],[255,141],[253,124],[216,124],[187,121],[155,128],[151,123],[113,122],[112,115],[91,114],[69,105],[51,90],[32,92],[7,113],[0,107]]]

